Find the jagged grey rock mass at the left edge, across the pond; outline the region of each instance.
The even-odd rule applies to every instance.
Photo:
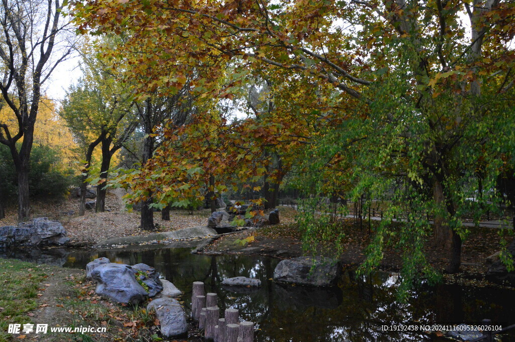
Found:
[[[0,227],[0,247],[9,246],[62,246],[70,239],[58,221],[47,218],[33,219],[18,226]]]

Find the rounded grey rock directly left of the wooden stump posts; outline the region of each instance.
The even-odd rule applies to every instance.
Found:
[[[154,299],[147,305],[147,311],[152,310],[159,319],[163,336],[169,338],[186,334],[186,314],[177,300],[168,297]]]

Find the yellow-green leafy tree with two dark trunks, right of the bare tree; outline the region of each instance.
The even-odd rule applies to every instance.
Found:
[[[101,59],[94,58],[94,46],[83,49],[84,76],[72,85],[63,100],[60,116],[84,150],[79,214],[84,214],[85,192],[93,151],[100,146],[101,160],[95,210],[105,210],[106,180],[113,155],[122,148],[138,126],[136,107],[127,88],[109,73]],[[89,50],[87,50],[89,49]]]

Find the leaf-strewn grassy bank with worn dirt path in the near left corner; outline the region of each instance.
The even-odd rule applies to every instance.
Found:
[[[155,315],[102,299],[84,271],[0,259],[0,342],[160,340]],[[8,333],[9,324],[48,324],[48,332]],[[51,327],[106,327],[105,332],[52,333]]]

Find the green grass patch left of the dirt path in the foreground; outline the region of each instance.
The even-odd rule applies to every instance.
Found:
[[[9,324],[32,322],[27,313],[37,308],[38,285],[45,277],[37,264],[0,259],[0,342],[12,337]]]

